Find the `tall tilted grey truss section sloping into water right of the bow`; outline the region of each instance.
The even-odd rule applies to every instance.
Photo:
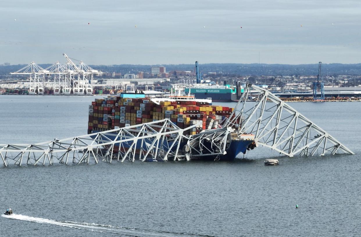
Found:
[[[247,84],[232,115],[226,126],[236,127],[239,135],[252,133],[258,144],[286,156],[354,154],[290,105],[258,86]]]

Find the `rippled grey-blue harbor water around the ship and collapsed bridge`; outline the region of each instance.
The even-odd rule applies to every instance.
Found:
[[[0,143],[84,135],[94,98],[0,96]],[[356,154],[0,167],[0,236],[358,236],[361,103],[290,105]]]

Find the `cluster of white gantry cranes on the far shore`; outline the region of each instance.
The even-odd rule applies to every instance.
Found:
[[[12,75],[29,75],[29,94],[43,95],[44,89],[52,90],[54,95],[92,95],[91,81],[94,75],[102,72],[92,69],[79,61],[76,65],[65,53],[65,64],[56,61],[43,69],[32,62],[24,68],[10,73]]]

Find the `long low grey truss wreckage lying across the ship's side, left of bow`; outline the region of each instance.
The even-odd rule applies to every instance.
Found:
[[[155,160],[190,160],[192,153],[202,155],[224,154],[225,132],[219,129],[212,133],[198,135],[190,143],[191,136],[183,135],[185,131],[196,128],[192,125],[181,129],[168,118],[164,120],[133,125],[126,128],[108,130],[79,137],[42,142],[36,144],[2,144],[0,158],[7,166],[10,163],[22,165],[65,163],[98,163],[99,160],[134,161],[139,159]],[[227,137],[227,136],[226,136]],[[204,151],[206,142],[218,152]],[[182,145],[182,147],[181,147]],[[184,147],[187,147],[184,149]],[[218,147],[218,148],[216,148]],[[201,152],[199,149],[201,148]]]

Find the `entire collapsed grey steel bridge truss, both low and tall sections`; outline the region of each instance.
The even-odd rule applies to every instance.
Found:
[[[256,102],[250,101],[255,96]],[[181,129],[165,118],[42,143],[0,144],[0,159],[5,166],[191,160],[225,155],[231,140],[245,134],[253,134],[258,145],[289,157],[354,154],[277,96],[251,84],[223,124],[223,128],[184,135],[200,124]]]

